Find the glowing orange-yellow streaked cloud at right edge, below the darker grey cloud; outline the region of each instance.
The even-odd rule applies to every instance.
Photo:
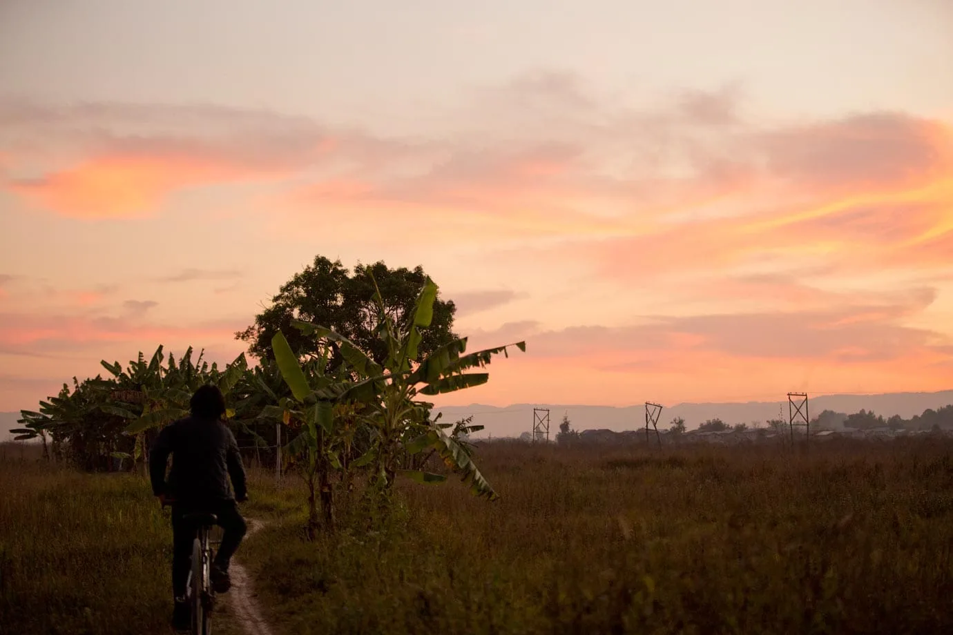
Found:
[[[953,181],[869,193],[798,208],[695,222],[656,224],[574,251],[613,277],[710,274],[742,267],[773,271],[791,260],[841,271],[937,268],[953,258]],[[815,192],[816,200],[824,193]],[[770,209],[770,207],[768,207]],[[565,249],[551,256],[564,258]],[[781,265],[783,266],[783,265]]]

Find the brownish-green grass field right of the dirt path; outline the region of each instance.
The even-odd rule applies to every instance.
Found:
[[[498,503],[401,486],[380,533],[243,558],[283,633],[949,633],[951,449],[495,444]]]

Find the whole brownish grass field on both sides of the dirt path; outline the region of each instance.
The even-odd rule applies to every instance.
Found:
[[[477,456],[501,501],[402,484],[386,526],[314,543],[303,486],[253,474],[270,525],[238,557],[275,632],[953,632],[949,441]],[[168,511],[142,477],[0,448],[0,481],[4,632],[168,632]]]

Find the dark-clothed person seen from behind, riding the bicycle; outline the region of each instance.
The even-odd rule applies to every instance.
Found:
[[[238,444],[232,430],[221,420],[225,415],[221,390],[211,384],[198,388],[190,409],[191,416],[162,428],[149,459],[152,493],[162,506],[172,506],[172,622],[176,628],[185,629],[190,620],[186,585],[197,529],[185,515],[213,513],[224,530],[212,565],[211,582],[217,593],[225,593],[232,585],[229,563],[247,530],[236,503],[248,500]],[[172,469],[167,482],[166,462],[170,454]]]

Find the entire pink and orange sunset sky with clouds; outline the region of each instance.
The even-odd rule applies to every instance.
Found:
[[[441,405],[953,387],[953,3],[0,4],[0,410],[421,265]]]

